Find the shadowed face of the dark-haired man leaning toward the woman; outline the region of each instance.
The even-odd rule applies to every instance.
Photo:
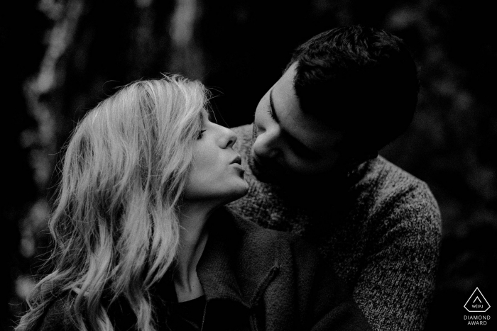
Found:
[[[322,177],[337,164],[343,135],[302,113],[294,63],[259,101],[253,125],[253,173],[261,181]],[[323,111],[333,111],[330,107]]]

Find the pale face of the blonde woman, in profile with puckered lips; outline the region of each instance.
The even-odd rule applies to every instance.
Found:
[[[247,193],[249,184],[244,180],[240,156],[233,150],[235,142],[233,131],[212,123],[202,110],[202,131],[195,142],[185,200],[221,205]]]

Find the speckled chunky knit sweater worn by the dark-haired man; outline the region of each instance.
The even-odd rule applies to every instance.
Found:
[[[250,188],[229,207],[317,245],[374,330],[422,330],[441,237],[439,208],[427,184],[378,156],[348,172],[337,190],[323,184],[288,193],[251,173],[252,125],[234,130]]]

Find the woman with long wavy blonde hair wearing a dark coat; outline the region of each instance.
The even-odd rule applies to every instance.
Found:
[[[367,330],[315,253],[222,207],[247,192],[200,82],[134,82],[77,125],[53,271],[20,330]]]

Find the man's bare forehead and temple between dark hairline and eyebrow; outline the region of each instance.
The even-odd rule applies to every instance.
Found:
[[[273,105],[280,127],[308,147],[333,148],[337,140],[342,139],[342,133],[330,129],[322,120],[302,113],[293,87],[294,77],[295,64],[273,86]]]

